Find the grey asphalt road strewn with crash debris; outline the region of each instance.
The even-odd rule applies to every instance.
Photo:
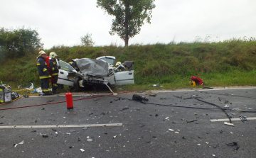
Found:
[[[0,108],[50,104],[0,110],[0,157],[255,157],[256,113],[238,109],[256,109],[256,89],[200,90],[73,95],[73,110],[61,95],[20,98]]]

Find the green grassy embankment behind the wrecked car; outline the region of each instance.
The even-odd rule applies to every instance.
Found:
[[[161,84],[159,89],[191,88],[191,76],[201,77],[205,86],[256,86],[256,41],[228,40],[220,43],[178,43],[169,45],[131,45],[129,47],[52,47],[65,62],[88,57],[95,59],[112,55],[118,61],[134,61],[135,85],[124,90],[156,89],[149,85]],[[33,82],[40,86],[35,55],[1,62],[0,80],[18,85]],[[117,87],[114,89],[119,91]]]

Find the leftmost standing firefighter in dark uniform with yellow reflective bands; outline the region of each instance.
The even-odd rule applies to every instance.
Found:
[[[41,79],[41,89],[43,91],[43,94],[45,96],[51,95],[49,92],[49,79],[50,79],[50,73],[48,70],[48,66],[46,64],[46,61],[44,58],[46,58],[46,52],[41,50],[39,52],[39,56],[37,57],[37,67],[38,67],[38,74],[39,74],[39,79]]]

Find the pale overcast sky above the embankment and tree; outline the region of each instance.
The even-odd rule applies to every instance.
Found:
[[[95,46],[124,46],[110,35],[113,16],[96,7],[97,0],[1,0],[0,27],[37,30],[45,49],[80,45],[92,34]],[[156,0],[151,24],[145,23],[131,44],[222,41],[256,38],[255,0]],[[207,38],[210,37],[210,38]]]

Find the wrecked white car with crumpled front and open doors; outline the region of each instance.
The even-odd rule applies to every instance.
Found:
[[[80,72],[77,72],[70,64],[58,61],[60,67],[58,84],[73,86],[76,90],[85,89],[90,85],[116,86],[134,84],[134,62],[125,61],[121,66],[125,71],[119,72],[119,67],[114,67],[115,57],[97,57],[96,60],[82,58],[76,60]]]

